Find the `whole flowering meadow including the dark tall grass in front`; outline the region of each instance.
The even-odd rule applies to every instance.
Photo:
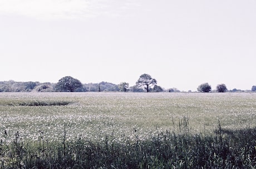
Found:
[[[256,165],[256,93],[0,93],[0,122],[0,168]]]

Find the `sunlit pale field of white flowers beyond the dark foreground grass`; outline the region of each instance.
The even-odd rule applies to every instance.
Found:
[[[29,140],[60,139],[64,130],[68,139],[124,139],[135,130],[142,139],[179,130],[184,117],[191,132],[213,132],[218,120],[225,129],[255,127],[256,93],[0,93],[0,131]]]

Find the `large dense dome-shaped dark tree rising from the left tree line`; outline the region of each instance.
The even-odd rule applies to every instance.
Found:
[[[58,80],[55,88],[56,91],[73,92],[78,88],[82,88],[81,81],[72,78],[71,76],[65,76]]]

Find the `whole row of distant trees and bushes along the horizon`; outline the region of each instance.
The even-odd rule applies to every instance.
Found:
[[[199,92],[209,93],[216,91],[219,93],[242,92],[243,90],[233,89],[228,90],[225,84],[218,84],[215,90],[211,90],[211,85],[208,83],[200,84],[197,88]],[[136,81],[134,86],[129,86],[129,83],[121,82],[113,84],[102,81],[101,83],[82,84],[80,80],[72,76],[65,76],[58,80],[58,83],[40,83],[38,81],[17,82],[13,80],[0,81],[0,92],[86,92],[86,91],[121,91],[121,92],[179,92],[176,88],[163,89],[157,85],[156,79],[149,74],[142,74]],[[256,86],[252,86],[251,91],[256,91]],[[191,92],[189,90],[189,92]]]

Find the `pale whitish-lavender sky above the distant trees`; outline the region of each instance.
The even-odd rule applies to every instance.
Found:
[[[256,85],[255,0],[0,0],[0,81]]]

